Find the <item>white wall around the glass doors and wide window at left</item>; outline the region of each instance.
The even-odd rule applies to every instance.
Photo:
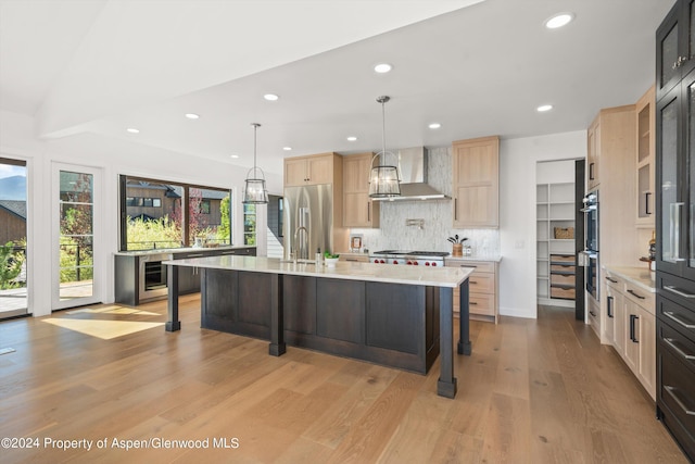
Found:
[[[7,111],[0,112],[0,156],[27,162],[27,241],[29,254],[27,280],[29,286],[29,312],[35,316],[51,312],[51,263],[54,259],[51,244],[51,170],[52,163],[67,163],[96,167],[102,177],[100,254],[105,263],[101,277],[104,284],[102,300],[113,302],[113,253],[118,250],[118,175],[129,174],[155,177],[170,181],[202,184],[211,187],[232,188],[235,202],[232,214],[242,217],[241,196],[247,174],[245,167],[208,160],[193,160],[189,155],[147,147],[125,140],[106,139],[93,134],[83,134],[55,140],[39,140],[34,136],[30,117]],[[282,192],[282,177],[268,174],[268,191]],[[262,215],[265,208],[260,208]],[[265,230],[265,222],[262,221]],[[235,222],[236,244],[243,242],[243,224]]]

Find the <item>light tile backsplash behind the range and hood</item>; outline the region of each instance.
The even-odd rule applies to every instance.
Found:
[[[428,184],[451,197],[451,148],[428,149]],[[351,229],[362,235],[369,251],[388,249],[452,251],[446,238],[458,234],[467,237],[472,256],[498,256],[500,231],[497,229],[454,229],[452,200],[413,200],[381,202],[381,227],[378,229]],[[410,225],[408,225],[410,224]]]

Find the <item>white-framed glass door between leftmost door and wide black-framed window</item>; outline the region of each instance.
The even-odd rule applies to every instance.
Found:
[[[53,170],[53,310],[100,301],[96,253],[99,172],[79,166]]]

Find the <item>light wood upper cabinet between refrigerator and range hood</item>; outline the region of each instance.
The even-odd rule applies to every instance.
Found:
[[[369,198],[372,156],[343,156],[343,227],[379,227],[379,202]]]

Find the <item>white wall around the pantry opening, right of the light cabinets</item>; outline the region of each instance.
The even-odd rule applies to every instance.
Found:
[[[535,318],[536,163],[586,156],[586,131],[500,143],[500,314]]]

